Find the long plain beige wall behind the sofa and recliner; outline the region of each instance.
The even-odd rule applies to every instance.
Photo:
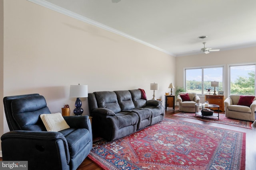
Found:
[[[74,109],[69,87],[78,83],[87,84],[88,92],[142,88],[151,99],[150,83],[156,82],[156,98],[164,99],[176,69],[175,57],[26,0],[4,0],[0,60],[0,97],[39,93],[52,113],[64,103]],[[88,115],[87,98],[82,108]],[[9,129],[0,121],[2,135]]]

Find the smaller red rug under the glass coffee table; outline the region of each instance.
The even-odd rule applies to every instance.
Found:
[[[238,126],[238,127],[244,127],[248,129],[252,129],[251,121],[245,121],[245,120],[238,120],[238,119],[231,119],[225,116],[225,114],[220,113],[219,114],[219,119],[218,117],[207,117],[204,116],[204,119],[200,115],[196,115],[195,113],[176,113],[174,116],[179,116],[179,117],[186,117],[190,119],[198,119],[202,121],[209,121],[209,122],[214,122],[214,123],[220,123],[220,124],[225,124],[225,125],[232,125],[232,126]]]

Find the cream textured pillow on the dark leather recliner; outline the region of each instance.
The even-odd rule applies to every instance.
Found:
[[[61,113],[41,114],[40,117],[47,131],[58,132],[70,128]]]

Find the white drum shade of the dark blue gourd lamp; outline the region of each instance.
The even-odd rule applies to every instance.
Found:
[[[70,97],[74,98],[86,98],[88,97],[88,86],[87,85],[70,85]]]

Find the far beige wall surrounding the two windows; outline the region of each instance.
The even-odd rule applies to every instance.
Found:
[[[230,51],[218,51],[209,54],[190,55],[176,57],[176,80],[177,86],[184,86],[184,68],[198,66],[224,66],[224,95],[228,93],[228,65],[256,63],[256,47],[236,49]],[[204,96],[200,98],[204,102]]]

